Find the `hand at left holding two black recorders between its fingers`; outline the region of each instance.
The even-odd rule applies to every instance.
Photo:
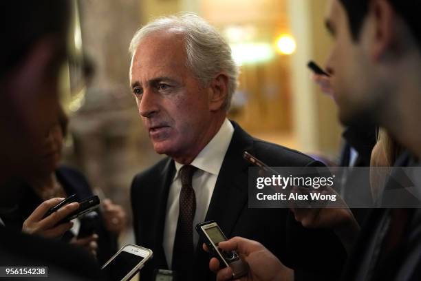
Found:
[[[45,238],[58,238],[67,230],[71,229],[73,222],[65,222],[57,225],[57,222],[65,218],[72,211],[76,211],[79,207],[78,202],[72,202],[55,211],[47,218],[43,218],[44,214],[52,207],[63,201],[64,198],[52,198],[42,202],[35,211],[23,222],[22,231],[28,234],[36,234]]]

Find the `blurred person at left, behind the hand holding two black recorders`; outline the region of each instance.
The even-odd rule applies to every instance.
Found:
[[[67,134],[68,119],[62,109],[58,111],[58,120],[48,129],[44,137],[40,155],[36,156],[38,165],[31,174],[25,175],[27,183],[21,187],[21,195],[14,217],[6,225],[16,225],[18,229],[30,232],[23,221],[30,216],[43,201],[51,198],[66,198],[75,194],[76,201],[93,196],[91,187],[80,171],[58,165],[61,161],[63,141]],[[117,251],[118,233],[125,227],[126,214],[120,205],[107,199],[102,202],[104,212],[98,209],[81,218],[73,220],[74,227],[64,233],[61,240],[84,247],[98,262],[104,264]]]

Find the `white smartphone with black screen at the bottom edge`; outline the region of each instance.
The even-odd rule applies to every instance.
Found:
[[[111,281],[130,280],[152,256],[150,249],[127,244],[105,262],[102,271]]]

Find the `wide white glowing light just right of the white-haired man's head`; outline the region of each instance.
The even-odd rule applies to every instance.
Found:
[[[269,61],[274,56],[269,43],[237,43],[230,46],[237,65]]]

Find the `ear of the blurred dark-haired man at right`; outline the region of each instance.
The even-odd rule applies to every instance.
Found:
[[[396,43],[396,13],[389,1],[371,1],[370,12],[374,17],[374,44],[371,55],[375,61],[382,59],[388,50]]]

